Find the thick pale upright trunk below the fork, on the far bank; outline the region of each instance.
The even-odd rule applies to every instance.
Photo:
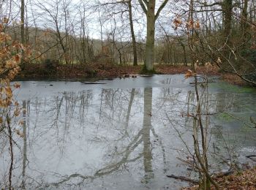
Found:
[[[155,9],[156,1],[148,2],[147,11],[147,37],[146,37],[146,53],[145,66],[147,71],[154,70],[154,23],[155,23]]]

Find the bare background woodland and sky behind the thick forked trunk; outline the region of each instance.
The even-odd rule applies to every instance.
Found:
[[[255,72],[255,0],[165,0],[155,20],[155,63],[222,61],[238,75]],[[143,63],[146,0],[1,1],[13,39],[31,46],[31,63]],[[156,9],[164,1],[156,1]],[[241,71],[242,69],[242,71]],[[248,73],[249,72],[249,73]]]

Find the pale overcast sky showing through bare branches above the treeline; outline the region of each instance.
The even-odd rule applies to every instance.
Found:
[[[20,20],[20,0],[0,0],[0,17],[12,14],[10,20]],[[112,3],[119,0],[25,0],[26,20],[29,27],[39,27],[44,29],[56,30],[58,23],[60,31],[66,28],[74,35],[79,35],[82,26],[85,26],[86,34],[90,38],[107,39],[110,34],[115,34],[118,40],[131,39],[129,32],[129,18],[127,9],[122,4],[109,4],[108,6],[99,6],[99,4]],[[163,0],[157,0],[156,9]],[[213,0],[210,0],[213,1]],[[132,1],[133,20],[135,36],[139,40],[146,37],[146,15],[138,4],[138,0]],[[11,8],[10,8],[11,7]],[[187,10],[187,4],[184,0],[170,0],[165,9],[162,10],[159,19],[156,22],[156,36],[174,34],[173,20],[182,12]],[[155,11],[157,12],[157,11]],[[65,23],[65,13],[67,22]],[[82,22],[83,21],[83,22]],[[164,30],[163,30],[164,29]]]

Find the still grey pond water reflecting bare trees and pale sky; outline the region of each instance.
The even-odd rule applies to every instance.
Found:
[[[225,82],[209,83],[209,162],[246,163],[256,154],[256,91]],[[166,175],[193,177],[195,87],[184,75],[102,80],[101,84],[21,81],[16,97],[26,112],[23,132],[14,134],[15,189],[179,189],[187,183]],[[222,113],[225,111],[225,113]],[[235,119],[236,117],[237,119]],[[256,119],[255,119],[256,120]],[[253,126],[253,125],[252,125]],[[0,187],[8,184],[10,153],[0,135]],[[194,176],[195,177],[195,176]]]

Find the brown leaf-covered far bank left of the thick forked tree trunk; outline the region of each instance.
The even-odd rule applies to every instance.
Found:
[[[20,71],[19,79],[79,79],[79,78],[114,78],[126,73],[140,72],[140,66],[116,66],[113,64],[74,64],[47,67],[44,64],[27,64]]]

